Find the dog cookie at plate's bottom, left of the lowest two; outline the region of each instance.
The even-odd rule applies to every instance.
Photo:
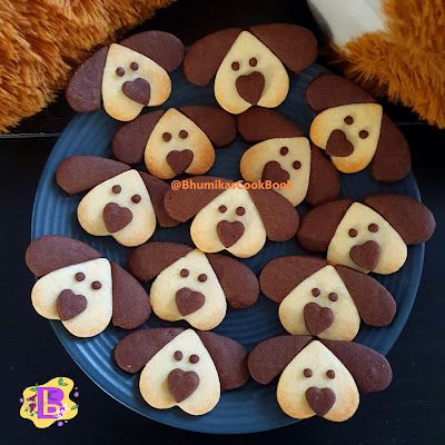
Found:
[[[178,406],[194,416],[210,412],[224,390],[248,378],[247,353],[235,340],[182,328],[137,330],[115,349],[118,366],[138,373],[139,390],[154,408]]]

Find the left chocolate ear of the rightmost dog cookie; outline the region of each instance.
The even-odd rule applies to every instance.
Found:
[[[301,247],[313,251],[326,251],[352,204],[352,199],[339,199],[309,210],[304,216],[298,231],[298,241]]]

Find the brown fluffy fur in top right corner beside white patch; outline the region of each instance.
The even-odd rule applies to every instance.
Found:
[[[347,77],[445,128],[445,2],[385,0],[387,32],[336,49]]]

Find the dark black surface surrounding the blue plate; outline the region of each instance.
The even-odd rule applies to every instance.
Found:
[[[171,31],[186,44],[225,27],[288,21],[318,33],[305,1],[179,0],[138,28]],[[323,58],[319,60],[324,62]],[[445,68],[445,67],[444,67]],[[18,105],[19,106],[19,105]],[[418,121],[409,110],[384,105],[407,137],[413,168],[424,202],[434,211],[437,230],[427,244],[424,275],[408,323],[388,354],[390,387],[364,397],[344,424],[312,418],[297,425],[247,436],[207,436],[181,432],[144,418],[99,389],[57,340],[49,323],[29,303],[33,277],[23,261],[29,244],[32,202],[46,159],[71,111],[61,97],[12,134],[0,136],[1,152],[1,388],[2,444],[155,444],[310,443],[438,444],[445,443],[445,131]],[[4,250],[6,247],[6,250]],[[63,427],[39,431],[19,416],[26,386],[65,375],[79,387],[79,415]]]

